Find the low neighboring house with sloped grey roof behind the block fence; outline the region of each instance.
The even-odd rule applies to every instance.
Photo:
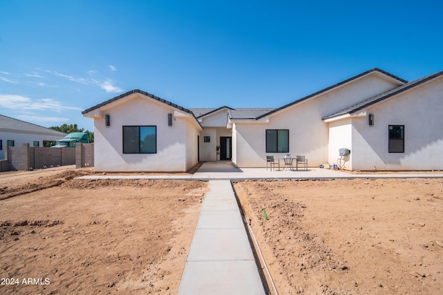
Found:
[[[43,142],[61,140],[66,134],[43,126],[0,115],[0,160],[8,146],[43,146]]]

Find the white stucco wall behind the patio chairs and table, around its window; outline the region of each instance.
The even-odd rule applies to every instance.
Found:
[[[289,129],[289,153],[305,155],[309,166],[329,162],[329,129],[323,117],[396,86],[374,73],[271,115],[269,123],[237,122],[235,163],[262,167],[266,166],[266,155],[284,157],[286,153],[266,153],[266,129]]]

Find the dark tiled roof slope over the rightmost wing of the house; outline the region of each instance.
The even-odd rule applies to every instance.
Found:
[[[443,75],[443,70],[440,72],[428,75],[426,77],[422,77],[420,79],[414,80],[412,82],[406,83],[404,85],[398,86],[397,88],[391,89],[390,91],[386,91],[384,93],[381,93],[381,94],[371,97],[369,99],[363,100],[363,102],[360,102],[359,104],[354,104],[354,106],[350,106],[349,108],[345,108],[343,111],[339,111],[337,113],[334,113],[332,115],[324,117],[323,120],[331,119],[333,117],[338,117],[341,115],[355,113],[356,111],[360,111],[362,108],[366,108],[372,104],[377,104],[377,102],[381,102],[384,99],[388,99],[389,97],[392,97],[392,96],[397,95],[399,93],[403,93],[404,91],[408,91],[411,88],[419,86],[420,84],[423,84],[424,82],[428,82],[431,79],[435,79],[436,77],[440,77],[441,75]]]

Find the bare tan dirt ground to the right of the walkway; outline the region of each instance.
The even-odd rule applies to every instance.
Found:
[[[443,293],[442,178],[235,189],[279,294]]]

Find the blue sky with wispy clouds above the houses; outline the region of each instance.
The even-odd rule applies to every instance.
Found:
[[[41,126],[134,88],[279,107],[381,68],[443,70],[442,1],[0,0],[0,114]]]

